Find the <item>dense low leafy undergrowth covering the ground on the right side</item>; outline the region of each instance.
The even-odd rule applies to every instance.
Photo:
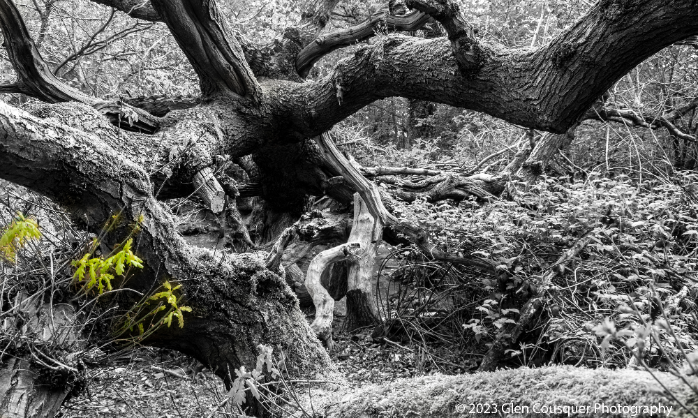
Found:
[[[664,331],[642,346],[641,358],[671,370],[698,348],[697,177],[640,183],[623,176],[544,178],[484,205],[404,204],[401,218],[427,227],[440,249],[493,260],[497,274],[396,251],[392,256],[401,257],[403,267],[384,280],[399,291],[383,311],[413,342],[457,341],[484,354],[554,271],[542,313],[507,351],[505,364],[624,368],[637,364],[637,341],[651,338],[641,327],[661,321]],[[581,237],[589,244],[558,265]],[[600,332],[611,324],[630,333],[611,338],[610,331]]]

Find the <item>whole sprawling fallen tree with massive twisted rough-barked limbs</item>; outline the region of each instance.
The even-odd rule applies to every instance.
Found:
[[[13,1],[1,0],[4,45],[17,75],[17,81],[2,91],[47,104],[18,109],[0,103],[0,177],[50,197],[70,212],[76,225],[94,233],[102,248],[123,248],[133,239],[143,269],[129,271],[128,288],[147,296],[157,294],[165,283],[176,283],[181,285],[177,298],[191,307],[189,313],[179,311],[181,327],[156,327],[138,343],[191,354],[228,386],[235,369],[255,363],[262,343],[281,347],[293,373],[341,378],[279,269],[276,255],[287,241],[276,246],[272,257],[230,252],[214,257],[211,251],[186,244],[163,200],[199,193],[211,211],[242,225],[238,211],[223,212],[241,193],[236,181],[211,168],[228,158],[260,185],[251,189],[262,198],[255,208],[261,244],[276,243],[297,221],[306,195],[329,195],[348,203],[356,192],[378,225],[436,260],[491,271],[487,260],[440,252],[419,225],[399,221],[389,211],[394,197],[341,155],[327,130],[374,100],[403,96],[466,107],[564,136],[643,59],[698,33],[695,2],[602,0],[545,47],[509,49],[477,38],[450,1],[407,1],[415,9],[413,15],[397,19],[383,12],[371,17],[366,27],[380,23],[403,29],[403,23],[394,22],[408,20],[407,27],[414,28],[428,15],[443,25],[447,38],[390,34],[380,43],[358,47],[330,75],[303,82],[301,75],[313,62],[356,40],[344,33],[336,45],[318,47],[332,37],[313,39],[336,1],[320,2],[309,13],[306,24],[312,31],[286,37],[273,47],[236,36],[212,0],[98,3],[167,24],[200,79],[201,97],[109,101],[69,87],[43,61]],[[362,30],[356,36],[367,34],[370,31]],[[618,38],[623,42],[616,42]],[[657,123],[670,126],[669,119]],[[556,148],[540,145],[532,156],[522,154],[517,161],[535,158],[535,149],[547,155]],[[521,165],[536,166],[540,164]],[[514,168],[510,172],[518,171]],[[444,180],[457,184],[449,190],[411,187],[406,193],[433,192],[433,198],[491,193],[487,190],[492,181]],[[463,191],[468,185],[470,191]],[[373,239],[379,236],[373,232]],[[365,274],[365,269],[357,274]],[[141,303],[138,297],[122,295],[106,301],[126,313]],[[155,322],[165,319],[158,315]],[[138,337],[137,332],[129,335]],[[31,362],[30,356],[21,358]],[[0,367],[15,373],[17,362]],[[70,372],[75,364],[54,367]],[[2,382],[2,398],[17,398],[22,388]],[[49,400],[31,396],[22,411],[16,410],[19,405],[2,403],[7,410],[3,413],[50,416],[66,393],[51,391]]]

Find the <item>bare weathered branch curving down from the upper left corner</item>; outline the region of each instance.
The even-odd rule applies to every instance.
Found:
[[[5,38],[4,46],[17,73],[15,91],[39,98],[47,103],[75,100],[91,105],[105,114],[112,124],[128,130],[154,133],[160,122],[148,112],[121,103],[121,101],[99,100],[82,91],[73,89],[58,79],[39,54],[22,15],[12,0],[0,0],[0,29]],[[11,91],[9,87],[5,89]]]

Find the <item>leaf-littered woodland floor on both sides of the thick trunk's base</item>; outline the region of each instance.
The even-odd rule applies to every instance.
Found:
[[[332,359],[354,387],[433,373],[464,373],[475,366],[456,365],[462,359],[457,360],[447,348],[426,354],[397,343],[374,343],[370,329],[347,334],[341,331],[341,302],[334,320],[336,347]],[[221,379],[208,369],[192,378],[193,365],[193,359],[179,352],[135,350],[92,370],[89,389],[67,401],[58,417],[230,417],[224,413],[225,408],[219,407],[226,395]]]

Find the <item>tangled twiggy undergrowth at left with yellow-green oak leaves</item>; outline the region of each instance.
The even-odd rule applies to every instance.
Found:
[[[184,325],[191,308],[174,293],[179,285],[165,282],[130,309],[114,303],[120,292],[135,292],[125,284],[144,267],[134,253],[140,221],[108,252],[100,242],[110,225],[101,236],[89,234],[45,197],[1,186],[7,197],[0,198],[0,362],[28,361],[39,382],[68,388],[70,398],[86,387],[89,366],[139,346],[173,318]]]

